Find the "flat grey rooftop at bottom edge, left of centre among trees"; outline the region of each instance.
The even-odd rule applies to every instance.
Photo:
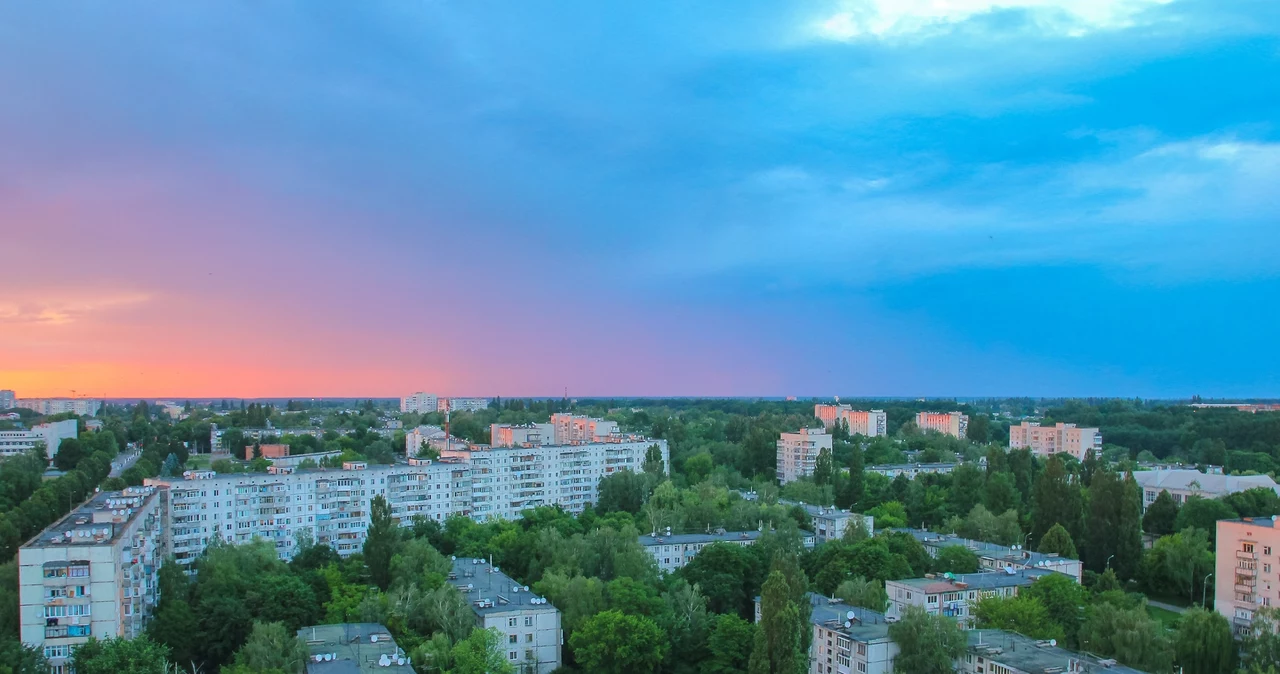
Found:
[[[298,637],[307,643],[307,674],[413,674],[407,654],[378,623],[305,627]]]

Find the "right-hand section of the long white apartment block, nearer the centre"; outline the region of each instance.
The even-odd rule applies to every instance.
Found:
[[[570,513],[596,503],[600,478],[617,471],[640,472],[645,454],[657,445],[666,468],[666,440],[609,436],[607,443],[530,446],[471,445],[440,453],[442,460],[471,469],[471,515],[516,519],[527,508],[561,505]]]

